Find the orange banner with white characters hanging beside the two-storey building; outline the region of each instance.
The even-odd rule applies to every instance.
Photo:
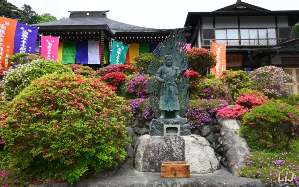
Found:
[[[216,78],[220,78],[222,76],[222,71],[226,70],[226,45],[222,45],[220,43],[212,42],[211,51],[216,55],[216,66],[211,68],[212,74],[216,74]]]

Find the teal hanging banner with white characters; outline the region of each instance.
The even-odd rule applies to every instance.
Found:
[[[125,64],[128,48],[129,45],[112,39],[110,65]]]

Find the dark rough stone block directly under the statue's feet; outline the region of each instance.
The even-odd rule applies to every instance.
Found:
[[[181,136],[191,135],[190,124],[187,118],[153,119],[149,124],[149,135],[163,136],[164,125],[180,125]]]

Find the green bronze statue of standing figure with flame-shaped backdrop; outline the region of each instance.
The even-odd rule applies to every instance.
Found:
[[[189,77],[184,72],[188,59],[182,32],[183,29],[171,32],[153,52],[157,60],[163,59],[163,66],[154,59],[148,68],[153,76],[146,86],[152,93],[150,103],[155,118],[182,118],[187,110]]]

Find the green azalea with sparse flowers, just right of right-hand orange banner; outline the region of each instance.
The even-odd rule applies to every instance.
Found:
[[[231,89],[231,95],[235,99],[239,90],[250,89],[254,82],[251,81],[246,71],[223,70],[221,80]]]

